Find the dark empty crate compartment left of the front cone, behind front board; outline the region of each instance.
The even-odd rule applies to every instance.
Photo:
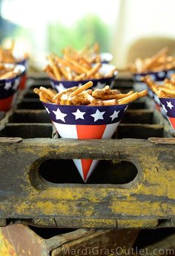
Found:
[[[52,138],[52,124],[6,124],[1,137]]]

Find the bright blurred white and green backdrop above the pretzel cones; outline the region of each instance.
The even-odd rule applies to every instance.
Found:
[[[175,54],[174,10],[174,0],[0,0],[0,42],[16,39],[37,68],[47,53],[99,42],[125,68],[164,46]]]

